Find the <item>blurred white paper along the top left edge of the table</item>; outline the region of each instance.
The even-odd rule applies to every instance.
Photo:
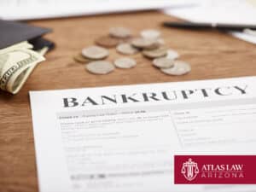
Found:
[[[96,15],[178,7],[187,3],[188,0],[1,0],[0,18],[3,20],[31,20]]]

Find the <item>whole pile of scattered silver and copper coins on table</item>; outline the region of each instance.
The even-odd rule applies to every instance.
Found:
[[[96,45],[82,49],[81,53],[74,56],[74,60],[84,63],[86,70],[94,74],[108,74],[115,67],[129,69],[137,66],[137,61],[127,57],[142,53],[143,56],[152,60],[153,66],[168,75],[183,75],[191,71],[189,63],[177,60],[179,54],[166,48],[161,33],[154,29],[140,32],[137,38],[132,37],[130,29],[125,27],[113,27],[107,36],[97,38]],[[108,49],[115,48],[125,57],[120,57],[113,62],[106,61]]]

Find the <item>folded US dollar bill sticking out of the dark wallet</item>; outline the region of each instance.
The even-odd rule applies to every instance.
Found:
[[[32,44],[27,42],[0,49],[0,89],[18,93],[33,69],[44,60],[44,56],[32,50]]]

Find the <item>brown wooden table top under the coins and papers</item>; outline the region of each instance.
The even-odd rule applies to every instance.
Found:
[[[16,96],[0,92],[0,191],[38,191],[29,90],[57,90],[116,84],[148,84],[195,79],[218,79],[256,75],[256,46],[216,32],[185,31],[163,28],[164,20],[177,20],[158,12],[101,15],[58,20],[32,21],[54,30],[47,38],[56,49],[46,55],[47,61],[32,73]],[[138,65],[131,70],[116,69],[105,76],[87,73],[73,61],[73,55],[95,38],[108,33],[111,26],[126,26],[137,34],[157,28],[166,44],[192,65],[192,72],[171,77],[151,66],[148,59],[135,55]],[[111,50],[109,60],[118,55]],[[49,133],[50,134],[50,133]]]

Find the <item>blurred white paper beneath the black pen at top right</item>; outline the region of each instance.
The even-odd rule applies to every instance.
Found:
[[[195,0],[194,3],[195,6],[166,9],[165,13],[192,22],[256,25],[255,0]],[[230,34],[256,44],[255,35],[245,32]]]

